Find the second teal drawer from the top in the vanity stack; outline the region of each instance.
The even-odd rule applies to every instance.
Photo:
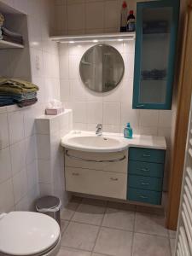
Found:
[[[163,177],[164,164],[129,160],[128,173],[150,177]]]

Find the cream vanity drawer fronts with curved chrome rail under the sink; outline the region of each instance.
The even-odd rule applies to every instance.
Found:
[[[66,190],[126,200],[128,151],[65,150]]]

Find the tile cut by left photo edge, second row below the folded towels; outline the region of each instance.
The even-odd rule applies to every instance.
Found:
[[[3,183],[11,177],[11,164],[9,148],[0,150],[0,183]]]

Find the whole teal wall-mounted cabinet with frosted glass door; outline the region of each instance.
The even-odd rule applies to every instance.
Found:
[[[178,14],[179,1],[137,3],[133,108],[172,108]]]

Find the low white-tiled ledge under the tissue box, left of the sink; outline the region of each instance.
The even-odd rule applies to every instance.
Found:
[[[64,155],[61,137],[72,130],[73,113],[66,109],[57,116],[43,115],[36,119],[38,135],[38,175],[40,195],[56,195],[67,203],[64,193]]]

